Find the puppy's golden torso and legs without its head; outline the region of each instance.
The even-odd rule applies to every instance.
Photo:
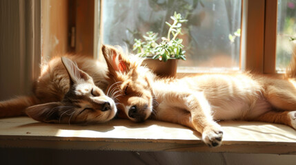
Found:
[[[152,80],[155,118],[193,128],[210,146],[221,140],[217,120],[247,120],[286,124],[296,129],[294,80],[250,74],[212,74]],[[153,116],[153,115],[152,115]]]

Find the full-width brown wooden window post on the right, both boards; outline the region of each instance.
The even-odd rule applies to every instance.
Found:
[[[277,0],[243,0],[241,69],[277,74]]]

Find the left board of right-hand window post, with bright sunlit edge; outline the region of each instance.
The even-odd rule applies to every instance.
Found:
[[[263,73],[264,0],[243,0],[241,18],[241,69]]]

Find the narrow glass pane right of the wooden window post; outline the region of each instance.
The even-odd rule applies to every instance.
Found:
[[[296,32],[296,0],[278,0],[277,4],[277,72],[285,70],[293,53]]]

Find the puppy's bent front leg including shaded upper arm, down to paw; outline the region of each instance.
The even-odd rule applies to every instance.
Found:
[[[188,126],[199,131],[208,146],[221,145],[223,131],[213,120],[210,104],[203,92],[175,90],[159,95],[158,101],[157,120]]]

